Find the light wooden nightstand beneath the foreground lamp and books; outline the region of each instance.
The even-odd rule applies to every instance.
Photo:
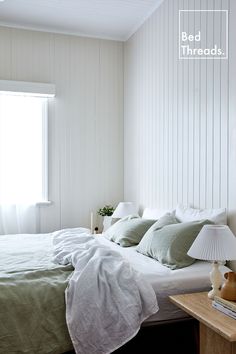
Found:
[[[199,321],[200,354],[236,354],[236,320],[214,309],[207,292],[169,298]]]

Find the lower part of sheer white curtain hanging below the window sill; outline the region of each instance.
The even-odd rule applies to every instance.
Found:
[[[37,232],[37,206],[35,204],[0,205],[0,234]]]

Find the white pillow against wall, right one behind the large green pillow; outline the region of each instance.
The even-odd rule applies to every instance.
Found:
[[[208,219],[217,225],[227,224],[226,208],[219,209],[194,209],[178,204],[175,216],[180,222]]]

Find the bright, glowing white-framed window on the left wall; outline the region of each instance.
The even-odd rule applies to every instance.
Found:
[[[47,98],[0,93],[0,204],[47,198]]]

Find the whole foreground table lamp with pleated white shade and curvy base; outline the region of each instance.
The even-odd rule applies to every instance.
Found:
[[[214,299],[214,296],[220,296],[222,274],[219,261],[236,259],[236,237],[230,228],[227,225],[204,225],[187,254],[196,259],[212,261],[212,290],[208,297]]]

